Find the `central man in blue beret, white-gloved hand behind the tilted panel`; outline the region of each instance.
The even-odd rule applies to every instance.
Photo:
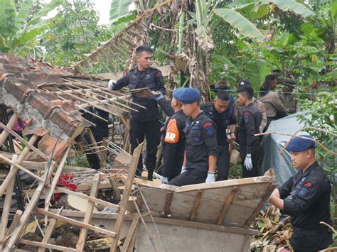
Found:
[[[215,166],[218,155],[215,125],[205,112],[200,110],[198,89],[184,88],[178,94],[183,104],[183,113],[191,116],[191,125],[186,135],[186,168],[173,178],[169,185],[192,185],[215,181]],[[184,160],[185,161],[185,160]]]

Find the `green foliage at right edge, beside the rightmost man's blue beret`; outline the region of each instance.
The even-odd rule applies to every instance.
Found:
[[[337,119],[337,90],[331,90],[331,92],[319,92],[316,100],[302,101],[301,109],[307,111],[304,115],[299,115],[299,121],[304,123],[304,126],[321,128],[327,132],[336,134],[336,119]],[[336,137],[331,134],[309,130],[309,133],[320,143],[331,150],[336,150]],[[319,163],[330,175],[331,181],[334,180],[334,176],[337,172],[336,155],[327,153],[320,146],[316,148],[316,155]]]

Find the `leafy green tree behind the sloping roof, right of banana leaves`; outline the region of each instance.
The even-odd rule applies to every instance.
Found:
[[[53,28],[41,41],[46,48],[46,60],[59,66],[82,60],[113,35],[107,27],[98,26],[98,21],[90,1],[65,1],[58,9]],[[100,72],[100,67],[96,70]]]

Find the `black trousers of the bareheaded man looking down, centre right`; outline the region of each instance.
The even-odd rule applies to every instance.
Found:
[[[216,181],[228,180],[228,172],[230,171],[230,150],[229,143],[218,146],[218,157],[216,160],[217,177]]]

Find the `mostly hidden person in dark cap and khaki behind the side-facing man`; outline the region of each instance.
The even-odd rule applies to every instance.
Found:
[[[237,88],[240,89],[240,87],[244,86],[250,86],[252,87],[252,83],[250,80],[240,80],[239,84],[237,85]],[[260,133],[264,131],[264,128],[267,126],[267,114],[266,114],[266,107],[264,106],[263,102],[256,99],[255,97],[252,98],[252,101],[255,103],[255,106],[259,111],[262,113],[262,121],[260,125]],[[245,110],[245,106],[240,106],[239,101],[237,100],[234,104],[234,114],[237,121],[237,125],[240,125],[240,120],[242,118],[242,113]]]

